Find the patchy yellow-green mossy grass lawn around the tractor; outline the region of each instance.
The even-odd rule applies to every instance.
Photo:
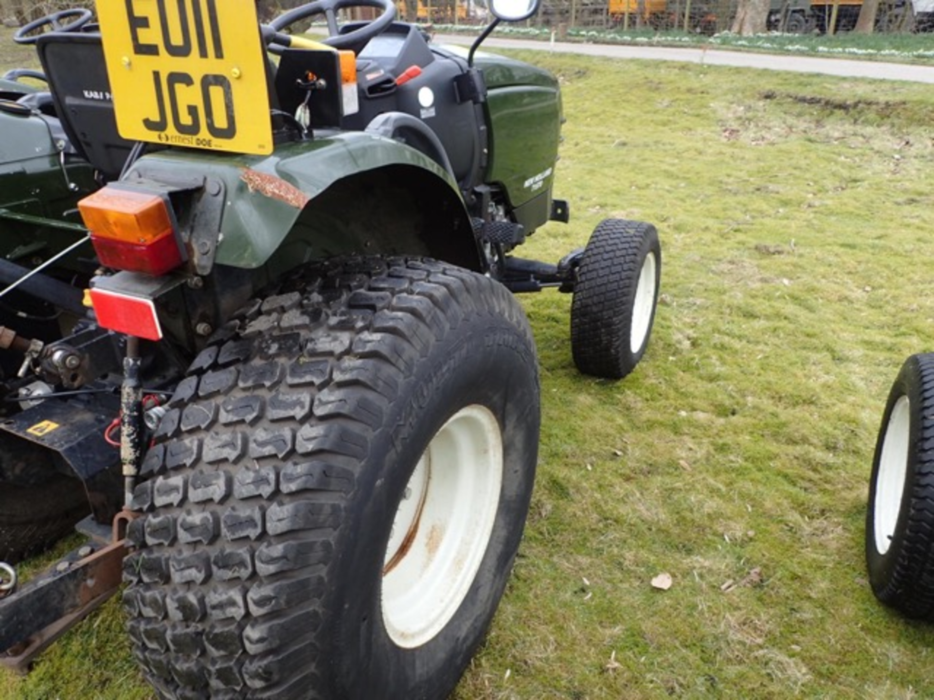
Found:
[[[934,628],[876,603],[862,531],[885,395],[934,335],[934,91],[514,55],[563,84],[572,207],[521,253],[651,221],[662,299],[643,364],[614,383],[574,370],[569,297],[523,298],[538,481],[455,697],[931,697]],[[28,678],[0,673],[0,697],[149,697],[119,603]]]

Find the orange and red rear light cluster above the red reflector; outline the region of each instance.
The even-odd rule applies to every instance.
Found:
[[[167,195],[108,185],[78,209],[106,267],[158,276],[185,261]]]

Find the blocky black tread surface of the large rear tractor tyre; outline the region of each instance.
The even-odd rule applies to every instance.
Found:
[[[478,285],[492,308],[474,305]],[[325,615],[355,466],[428,339],[477,314],[528,329],[505,287],[482,276],[425,259],[345,259],[304,267],[245,306],[233,337],[227,328],[209,341],[133,496],[144,515],[123,606],[157,693],[318,697],[295,669],[321,672],[309,635]]]

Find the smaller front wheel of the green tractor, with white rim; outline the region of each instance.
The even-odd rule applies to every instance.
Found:
[[[571,350],[578,370],[621,379],[635,369],[652,332],[660,280],[655,227],[621,218],[601,221],[574,283]]]

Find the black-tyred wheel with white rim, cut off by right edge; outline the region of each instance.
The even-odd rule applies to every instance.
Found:
[[[934,354],[909,357],[876,441],[866,515],[872,592],[914,618],[934,618]]]

